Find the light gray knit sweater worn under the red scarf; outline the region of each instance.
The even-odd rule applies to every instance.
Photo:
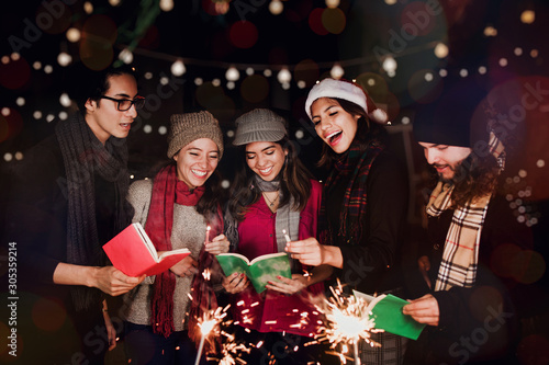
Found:
[[[141,223],[143,227],[147,221],[150,197],[153,195],[153,181],[139,180],[130,186],[127,201],[135,209],[133,223]],[[171,229],[172,249],[187,248],[192,258],[198,260],[200,250],[205,240],[206,223],[204,217],[197,213],[193,206],[173,205],[173,227]],[[136,324],[150,324],[150,295],[154,276],[147,277],[141,285],[127,293],[124,303],[127,306],[126,320]],[[176,331],[187,328],[192,277],[176,276],[176,290],[173,293],[173,327]]]

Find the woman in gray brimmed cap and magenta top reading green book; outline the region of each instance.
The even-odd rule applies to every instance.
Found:
[[[225,214],[233,251],[253,260],[284,252],[287,239],[314,237],[322,186],[299,160],[284,118],[267,109],[242,115],[233,145],[242,157]],[[248,364],[269,363],[269,356],[277,364],[306,364],[323,352],[304,344],[318,326],[309,298],[323,292],[329,267],[309,269],[307,275],[306,266],[291,261],[292,278],[279,277],[260,294],[244,275],[232,274],[223,283],[238,304],[233,306],[240,326],[237,337],[254,344],[262,341],[244,357]],[[306,321],[303,312],[310,315]]]

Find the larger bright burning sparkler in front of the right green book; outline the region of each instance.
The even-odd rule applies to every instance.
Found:
[[[365,340],[371,346],[381,346],[371,340],[371,333],[380,332],[380,330],[374,329],[374,321],[368,316],[368,303],[366,300],[355,296],[344,296],[340,283],[338,283],[337,288],[330,287],[329,289],[333,297],[329,300],[324,299],[323,308],[317,306],[326,318],[326,323],[321,327],[321,334],[317,339],[320,342],[328,341],[332,343],[330,349],[335,349],[340,344],[343,351],[340,353],[333,352],[332,354],[339,356],[343,364],[346,364],[347,360],[351,360],[346,356],[346,353],[348,352],[347,343],[352,344],[355,364],[359,365],[359,341]]]

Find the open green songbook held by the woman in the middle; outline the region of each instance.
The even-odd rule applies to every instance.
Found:
[[[257,293],[266,289],[268,282],[278,282],[277,276],[292,278],[288,253],[269,253],[249,261],[239,253],[221,253],[215,255],[226,276],[238,272],[245,273]]]

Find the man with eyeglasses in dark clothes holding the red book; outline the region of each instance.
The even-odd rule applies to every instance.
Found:
[[[9,194],[25,364],[103,364],[116,345],[108,303],[144,280],[109,265],[101,247],[131,224],[125,138],[145,99],[131,67],[72,81],[79,113],[25,152]]]

